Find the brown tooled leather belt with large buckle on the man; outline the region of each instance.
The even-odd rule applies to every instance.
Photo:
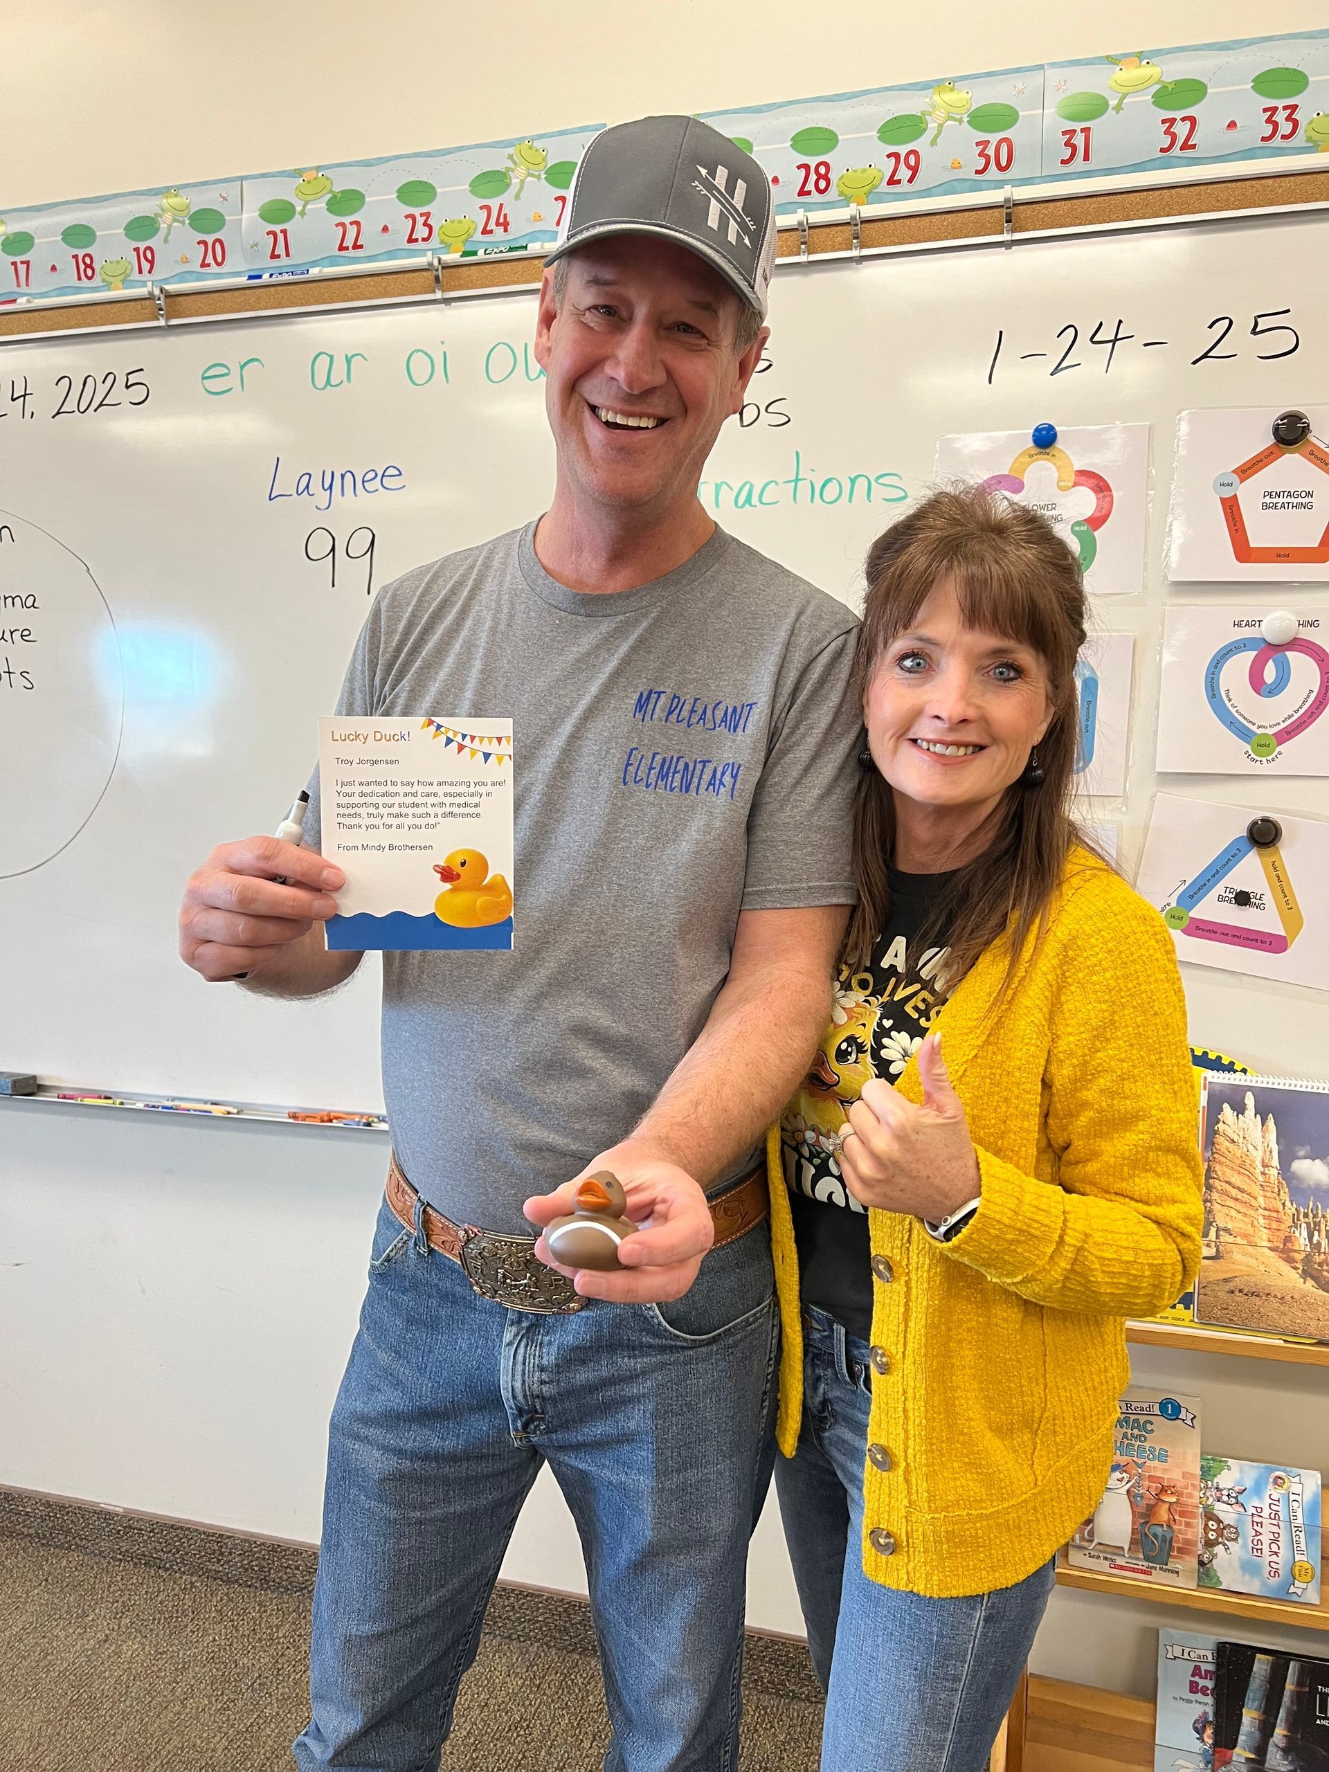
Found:
[[[397,1154],[388,1166],[386,1200],[393,1216],[406,1230],[415,1230],[418,1194],[402,1175]],[[751,1170],[709,1200],[716,1226],[712,1249],[723,1249],[757,1224],[769,1210],[766,1191],[766,1164]],[[438,1207],[425,1205],[420,1212],[425,1242],[439,1255],[455,1262],[482,1299],[507,1304],[516,1311],[542,1311],[571,1315],[588,1301],[572,1290],[572,1281],[535,1255],[533,1237],[509,1237],[477,1224],[454,1224]]]

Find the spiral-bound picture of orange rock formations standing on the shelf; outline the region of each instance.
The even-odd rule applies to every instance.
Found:
[[[1203,1077],[1196,1322],[1329,1341],[1329,1088]]]

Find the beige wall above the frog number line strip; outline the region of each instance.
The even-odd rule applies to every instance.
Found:
[[[1324,0],[14,0],[4,206],[1329,23]]]

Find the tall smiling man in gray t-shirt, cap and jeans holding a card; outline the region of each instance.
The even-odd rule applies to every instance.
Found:
[[[737,1763],[778,1340],[760,1139],[829,1012],[859,730],[851,613],[696,498],[773,260],[769,184],[725,136],[597,136],[540,287],[553,503],[386,587],[347,672],[346,714],[512,714],[517,927],[512,953],[385,955],[395,1159],[330,1430],[303,1772],[438,1765],[544,1460],[587,1552],[606,1767]],[[328,991],[358,962],[317,927],[340,884],[310,849],[225,843],[184,959]],[[530,1224],[597,1168],[647,1228],[571,1278]]]

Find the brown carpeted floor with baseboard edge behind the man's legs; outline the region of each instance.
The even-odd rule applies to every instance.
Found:
[[[0,1772],[292,1772],[312,1552],[0,1496]],[[751,1639],[742,1772],[815,1772],[801,1646]],[[599,1772],[587,1607],[505,1588],[445,1772]]]

